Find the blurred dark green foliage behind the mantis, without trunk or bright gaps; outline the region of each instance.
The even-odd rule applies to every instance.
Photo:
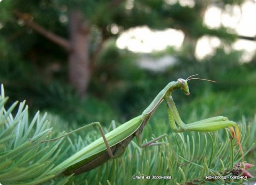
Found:
[[[175,101],[178,104],[203,96],[201,89],[206,87],[209,93],[214,91],[223,94],[235,88],[238,89],[239,96],[242,96],[243,88],[248,87],[246,84],[255,80],[253,67],[250,66],[253,62],[241,64],[238,52],[224,52],[227,43],[234,40],[234,34],[223,27],[207,28],[200,13],[209,5],[225,9],[225,5],[242,2],[195,1],[195,5],[190,7],[181,5],[179,1],[170,3],[164,0],[4,0],[0,7],[4,10],[1,11],[0,17],[0,46],[4,48],[0,50],[0,82],[5,85],[6,92],[13,100],[26,99],[34,112],[37,109],[48,110],[62,115],[68,121],[81,124],[92,121],[109,123],[112,119],[124,122],[143,111],[169,81],[197,73],[202,78],[213,79],[218,83],[191,81],[191,97],[177,93]],[[114,4],[111,11],[108,8],[109,3]],[[24,22],[15,19],[11,14],[13,10],[18,9],[32,16],[36,23],[47,30],[67,37],[68,14],[73,8],[80,9],[92,25],[91,53],[96,52],[104,36],[109,38],[103,43],[98,60],[92,68],[88,88],[90,95],[82,101],[67,83],[67,54],[54,43],[25,27]],[[116,48],[115,39],[118,34],[111,33],[113,24],[118,26],[118,34],[134,26],[147,25],[156,30],[180,29],[194,39],[202,35],[216,35],[225,40],[225,46],[220,47],[214,56],[201,62],[188,57],[187,50],[166,50],[166,54],[177,57],[178,62],[162,73],[156,73],[138,68],[140,54],[135,55]],[[253,92],[255,86],[251,87],[249,92]],[[233,95],[234,99],[238,97],[235,94],[230,96]],[[251,96],[246,97],[250,99]],[[229,106],[238,106],[233,104],[235,103],[230,103]],[[247,107],[249,112],[242,114],[253,115],[253,105]],[[233,115],[239,114],[234,112]]]

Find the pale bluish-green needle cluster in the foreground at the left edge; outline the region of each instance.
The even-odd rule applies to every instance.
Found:
[[[0,96],[0,182],[3,185],[36,185],[54,177],[49,171],[60,156],[57,151],[62,140],[46,146],[41,144],[52,130],[45,116],[37,112],[29,121],[28,106],[20,103],[17,113],[14,108],[4,108],[7,98],[1,86]]]

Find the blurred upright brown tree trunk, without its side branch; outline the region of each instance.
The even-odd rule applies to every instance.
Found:
[[[72,11],[69,16],[68,77],[81,97],[86,95],[90,80],[89,36],[90,27],[82,14],[78,10]]]

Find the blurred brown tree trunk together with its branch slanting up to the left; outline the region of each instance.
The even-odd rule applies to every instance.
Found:
[[[90,80],[90,26],[84,21],[83,15],[78,10],[72,10],[69,15],[69,40],[59,35],[47,31],[32,19],[27,13],[14,11],[18,19],[22,19],[25,24],[34,31],[42,34],[49,40],[60,45],[68,52],[68,78],[71,85],[78,91],[81,97],[85,97]]]

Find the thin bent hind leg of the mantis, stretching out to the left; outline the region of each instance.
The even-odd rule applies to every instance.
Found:
[[[110,147],[109,147],[109,144],[108,144],[108,142],[107,142],[106,136],[105,136],[104,131],[103,131],[103,129],[102,129],[102,127],[101,127],[101,124],[100,124],[99,122],[94,122],[94,123],[87,124],[87,125],[85,125],[85,126],[82,126],[82,127],[80,127],[80,128],[77,128],[77,129],[75,129],[75,130],[73,130],[73,131],[71,131],[71,132],[68,132],[68,133],[66,133],[66,134],[64,134],[64,135],[62,135],[62,136],[60,136],[60,137],[56,137],[56,138],[54,138],[54,139],[45,140],[45,141],[42,141],[41,143],[50,142],[50,141],[56,141],[56,140],[58,140],[58,139],[60,139],[60,138],[63,138],[63,137],[65,137],[65,136],[67,136],[67,135],[70,135],[70,134],[72,134],[72,133],[74,133],[74,132],[83,130],[83,129],[85,129],[85,128],[89,127],[89,126],[93,126],[93,125],[97,125],[97,127],[98,127],[98,129],[99,129],[99,131],[100,131],[100,134],[102,135],[103,141],[104,141],[104,143],[105,143],[105,145],[106,145],[107,153],[109,154],[109,156],[110,156],[111,158],[113,158],[114,155],[113,155],[113,153],[112,153],[112,151],[111,151],[111,149],[110,149]]]

